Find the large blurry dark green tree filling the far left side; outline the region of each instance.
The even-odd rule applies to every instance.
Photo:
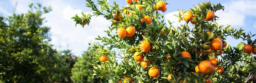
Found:
[[[51,11],[40,3],[25,14],[0,17],[0,82],[71,82],[76,57],[70,50],[57,52],[49,44],[49,27],[43,14]]]

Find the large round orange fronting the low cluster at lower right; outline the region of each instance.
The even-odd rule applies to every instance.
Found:
[[[198,64],[198,69],[201,73],[207,74],[211,72],[211,63],[209,61],[201,61]]]

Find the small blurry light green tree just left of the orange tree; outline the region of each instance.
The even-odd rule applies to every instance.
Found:
[[[99,44],[94,43],[95,46]],[[102,47],[102,46],[101,46]],[[93,59],[94,50],[85,51],[81,57],[78,57],[76,64],[72,68],[72,81],[74,83],[106,83],[105,79],[101,79],[93,75],[93,63],[97,62]],[[97,64],[100,64],[99,62]]]

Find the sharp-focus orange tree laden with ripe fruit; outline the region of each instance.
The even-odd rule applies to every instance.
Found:
[[[86,1],[93,15],[72,17],[76,25],[87,26],[92,16],[99,15],[112,22],[107,35],[96,38],[105,47],[89,47],[98,62],[103,55],[108,58],[93,64],[97,77],[111,83],[255,82],[255,34],[218,25],[216,20],[221,19],[215,12],[224,10],[221,4],[199,3],[187,11],[179,10],[175,16],[185,23],[173,27],[160,14],[167,9],[165,0],[126,0],[128,4],[121,8],[115,1],[113,6],[108,0],[97,0],[99,6]],[[193,26],[188,26],[190,22]],[[228,36],[244,42],[229,46]],[[246,44],[249,46],[244,47]],[[123,59],[122,63],[117,63],[116,57]]]

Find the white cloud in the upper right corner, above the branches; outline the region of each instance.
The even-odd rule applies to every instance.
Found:
[[[256,5],[254,4],[256,4],[255,0],[239,0],[224,3],[224,11],[216,12],[216,15],[220,17],[220,20],[218,20],[217,22],[224,26],[244,26],[246,16],[256,16]]]

